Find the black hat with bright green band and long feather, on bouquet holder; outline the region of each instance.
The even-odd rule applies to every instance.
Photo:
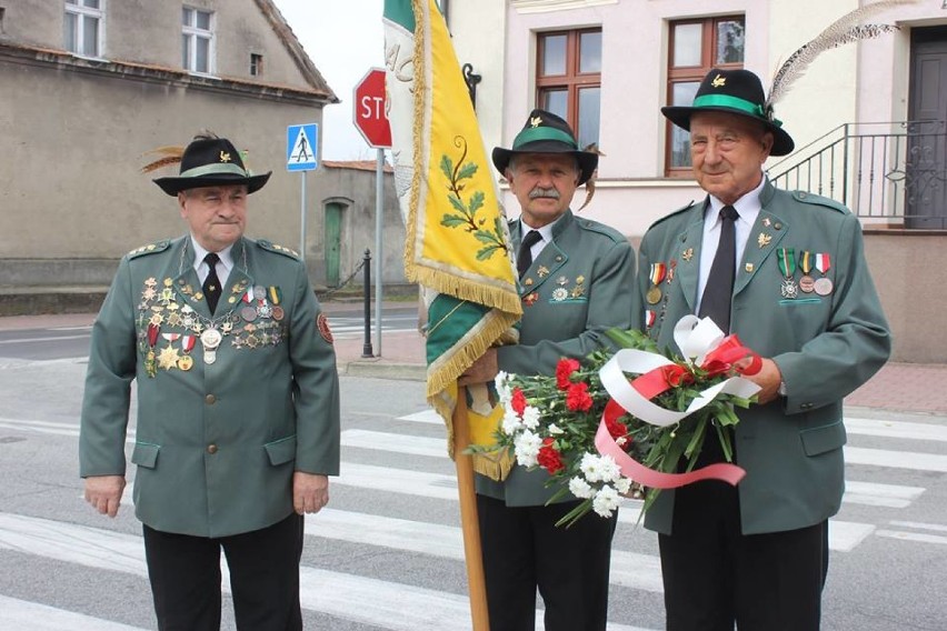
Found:
[[[766,98],[759,77],[749,70],[718,70],[707,73],[697,89],[690,107],[669,106],[661,108],[672,123],[690,131],[690,117],[695,112],[718,111],[739,114],[761,122],[772,132],[771,156],[791,153],[796,143],[782,130],[782,121],[772,116],[772,109],[765,107]]]

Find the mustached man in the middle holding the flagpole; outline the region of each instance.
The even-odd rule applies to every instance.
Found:
[[[561,118],[534,110],[511,150],[494,149],[522,214],[510,222],[524,316],[518,345],[488,351],[461,379],[476,383],[498,370],[555,374],[564,357],[585,358],[607,343],[602,332],[628,329],[635,307],[635,251],[618,231],[569,210],[598,154],[579,151]],[[556,522],[578,500],[546,505],[556,491],[544,470],[514,467],[502,482],[477,475],[477,510],[492,631],[534,629],[536,590],[547,631],[605,630],[617,514],[589,514],[570,528]]]

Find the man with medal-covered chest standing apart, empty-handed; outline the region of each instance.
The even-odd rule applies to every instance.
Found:
[[[339,471],[339,384],[303,263],[243,237],[269,176],[230,141],[196,138],[180,174],[156,180],[189,234],[126,254],[92,329],[86,499],[119,510],[134,380],[134,510],[162,630],[219,629],[221,548],[238,627],[302,629],[302,515]]]

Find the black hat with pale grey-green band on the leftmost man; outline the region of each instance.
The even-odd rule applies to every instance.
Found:
[[[263,188],[271,173],[250,173],[240,152],[226,138],[198,138],[181,154],[178,177],[158,178],[154,183],[169,196],[200,187],[232,184],[246,184],[247,192],[252,193]]]

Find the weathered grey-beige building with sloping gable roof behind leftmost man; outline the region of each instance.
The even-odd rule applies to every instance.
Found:
[[[248,236],[296,249],[287,127],[338,101],[270,0],[0,0],[0,286],[106,286],[124,252],[182,234],[150,181],[177,166],[140,168],[202,130],[273,172]]]

